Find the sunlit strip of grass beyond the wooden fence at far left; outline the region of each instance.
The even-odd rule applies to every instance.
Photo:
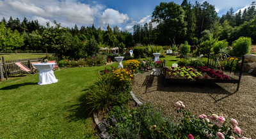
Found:
[[[10,55],[1,55],[0,57],[2,59],[2,56],[4,57],[4,60],[14,60],[14,59],[30,59],[30,58],[38,58],[38,57],[46,57],[46,55],[36,55],[36,54],[10,54]],[[51,55],[49,55],[51,56]]]

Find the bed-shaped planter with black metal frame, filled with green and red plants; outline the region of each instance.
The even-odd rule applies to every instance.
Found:
[[[240,69],[237,64],[241,62]],[[164,78],[164,87],[172,82],[219,82],[219,83],[235,83],[237,84],[237,91],[241,81],[242,69],[243,69],[243,57],[232,57],[225,52],[218,54],[209,54],[208,62],[205,67],[186,67],[180,66],[179,68],[168,68],[163,64],[163,71],[161,77]],[[214,70],[218,69],[218,70]],[[219,71],[220,70],[220,71]],[[239,79],[230,78],[223,74],[223,71],[234,71],[234,75],[237,75],[239,71]],[[189,73],[190,72],[190,73]],[[183,76],[180,76],[180,73]],[[181,74],[181,75],[182,75]]]

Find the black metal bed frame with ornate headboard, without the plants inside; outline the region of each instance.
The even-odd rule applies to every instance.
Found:
[[[227,60],[227,57],[232,57],[234,58],[233,60],[230,60],[231,58],[229,58]],[[236,69],[232,70],[232,66],[234,64],[235,59],[237,59],[236,64]],[[227,60],[227,65],[224,66],[222,61]],[[219,68],[223,71],[230,71],[230,73],[232,71],[234,71],[234,75],[236,75],[236,71],[237,71],[237,64],[238,62],[241,61],[241,67],[240,67],[240,72],[239,75],[237,75],[239,77],[238,80],[236,79],[230,79],[230,80],[225,80],[225,79],[198,79],[198,80],[189,80],[189,79],[184,79],[184,78],[167,78],[166,77],[166,70],[168,69],[168,67],[166,67],[166,61],[164,61],[163,63],[163,71],[161,72],[161,77],[164,77],[164,87],[166,87],[166,82],[204,82],[204,83],[234,83],[237,84],[237,91],[239,90],[239,85],[241,82],[241,76],[242,76],[242,71],[243,71],[243,64],[244,64],[244,56],[243,57],[233,57],[228,55],[225,52],[219,52],[218,54],[208,54],[208,61],[207,61],[207,68],[212,68],[212,69],[216,69]],[[228,65],[230,65],[230,69],[228,70]]]

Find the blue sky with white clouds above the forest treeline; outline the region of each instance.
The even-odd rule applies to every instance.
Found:
[[[24,17],[28,20],[38,20],[43,26],[46,22],[53,24],[53,20],[61,23],[61,26],[74,27],[81,26],[101,27],[106,29],[108,24],[118,26],[122,31],[132,32],[135,24],[145,24],[150,22],[152,12],[156,5],[161,2],[157,0],[0,0],[0,18],[8,20],[12,18]],[[181,4],[182,0],[175,0]],[[204,0],[198,1],[203,3]],[[227,13],[231,7],[234,11],[250,6],[252,0],[207,0],[215,6],[218,16]],[[195,3],[195,0],[191,0]],[[153,24],[156,26],[156,24]]]

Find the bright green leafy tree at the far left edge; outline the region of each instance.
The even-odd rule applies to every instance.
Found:
[[[12,31],[10,27],[6,27],[4,22],[0,26],[0,50],[8,50],[18,48],[24,45],[22,36],[17,30]]]

